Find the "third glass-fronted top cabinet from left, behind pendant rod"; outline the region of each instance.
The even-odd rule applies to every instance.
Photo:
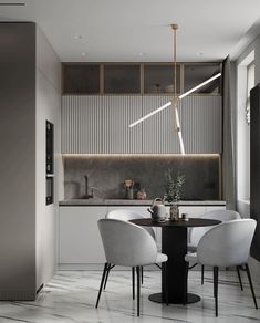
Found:
[[[176,93],[180,93],[180,66],[176,69]],[[144,64],[144,93],[174,93],[173,64]]]

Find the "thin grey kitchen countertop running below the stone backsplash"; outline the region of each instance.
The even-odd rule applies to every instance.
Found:
[[[65,199],[60,206],[150,206],[153,200],[138,199]],[[167,204],[166,204],[167,206]],[[223,200],[180,200],[179,206],[226,206]]]

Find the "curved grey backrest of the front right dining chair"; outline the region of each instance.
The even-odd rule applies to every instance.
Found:
[[[212,267],[247,263],[256,226],[253,219],[239,219],[214,227],[198,243],[199,263]]]

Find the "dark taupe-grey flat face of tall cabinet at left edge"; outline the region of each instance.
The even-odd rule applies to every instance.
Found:
[[[0,23],[0,299],[35,293],[35,25]]]

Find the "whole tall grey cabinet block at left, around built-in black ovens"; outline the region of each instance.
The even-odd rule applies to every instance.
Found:
[[[34,23],[1,22],[0,49],[0,300],[34,300],[56,263],[59,196],[55,186],[45,206],[45,122],[55,125],[59,156],[61,64]]]

